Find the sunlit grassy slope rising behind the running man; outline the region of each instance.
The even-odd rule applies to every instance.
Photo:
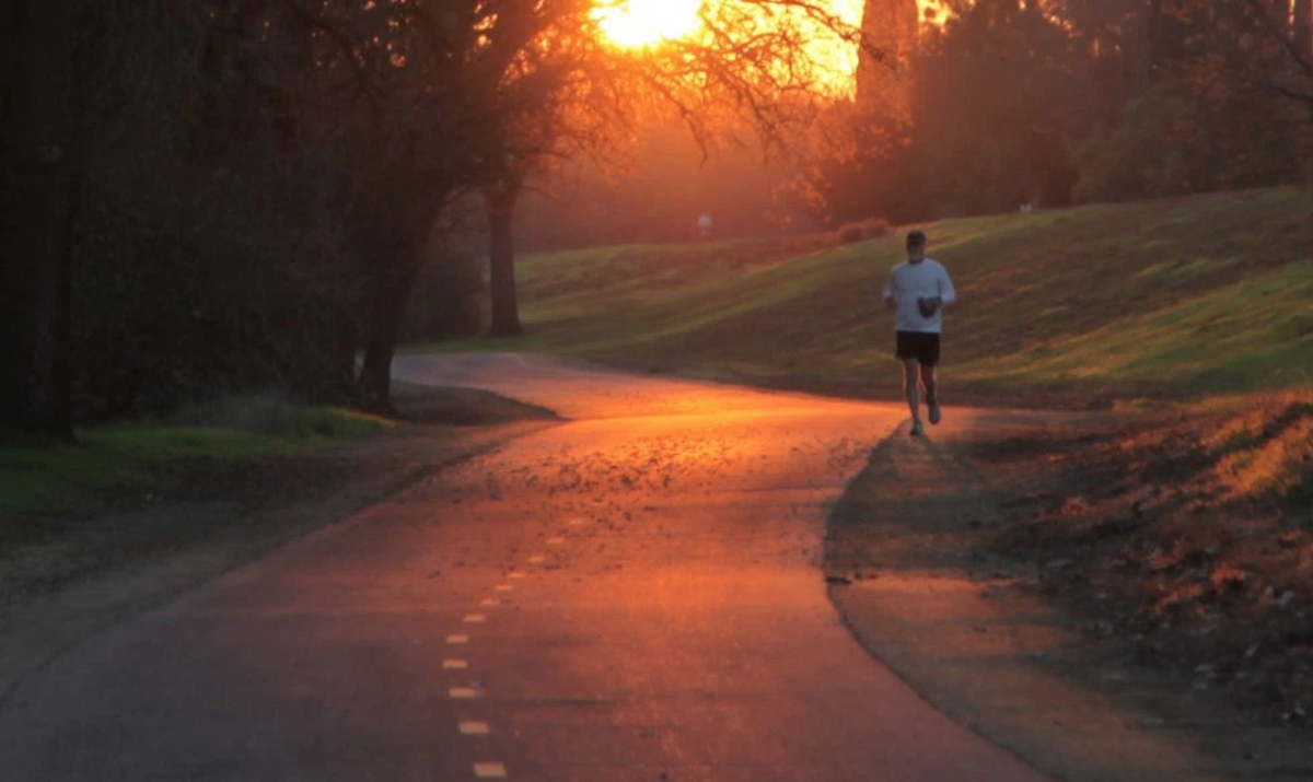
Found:
[[[1007,390],[1201,399],[1313,381],[1313,189],[1281,188],[922,226],[962,297],[945,374]],[[836,247],[641,245],[520,261],[534,350],[733,370],[811,387],[885,384],[880,302],[902,230]]]

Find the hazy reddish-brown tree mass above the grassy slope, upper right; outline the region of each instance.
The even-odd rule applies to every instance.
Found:
[[[868,3],[868,12],[886,3]],[[1306,181],[1309,0],[948,0],[827,134],[836,220]],[[898,39],[888,10],[871,24]],[[906,37],[903,34],[903,37]],[[884,97],[880,97],[884,96]],[[903,110],[906,101],[907,109]],[[842,129],[847,127],[847,133]]]

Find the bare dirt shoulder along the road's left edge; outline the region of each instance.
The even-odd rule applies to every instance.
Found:
[[[559,421],[467,388],[398,384],[394,401],[404,422],[385,436],[315,455],[196,464],[167,495],[49,520],[49,534],[0,550],[0,701],[119,619]]]

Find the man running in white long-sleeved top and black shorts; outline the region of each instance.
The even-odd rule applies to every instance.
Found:
[[[939,261],[926,257],[926,235],[920,231],[907,234],[907,261],[889,272],[885,283],[885,306],[898,312],[895,318],[894,356],[903,366],[903,392],[911,409],[911,436],[920,437],[920,387],[926,388],[926,404],[930,407],[930,422],[937,424],[939,378],[935,367],[939,365],[939,336],[944,329],[944,307],[957,302],[953,281]],[[918,383],[918,367],[920,382]]]

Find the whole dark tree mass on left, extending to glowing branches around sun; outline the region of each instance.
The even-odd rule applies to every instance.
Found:
[[[706,4],[696,34],[646,49],[608,39],[593,0],[0,9],[17,258],[3,426],[64,434],[75,407],[114,416],[267,384],[355,386],[383,407],[453,205],[482,193],[509,226],[534,171],[601,154],[658,108],[704,144],[743,118],[783,138],[825,79],[818,31],[859,38],[805,0]]]

